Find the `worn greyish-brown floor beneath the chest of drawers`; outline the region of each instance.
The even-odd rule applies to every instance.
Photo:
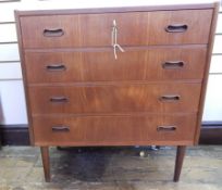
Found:
[[[188,148],[177,183],[174,148],[51,148],[50,156],[47,183],[38,148],[3,147],[0,190],[222,190],[222,147]]]

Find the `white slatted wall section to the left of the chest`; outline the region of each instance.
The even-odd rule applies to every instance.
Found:
[[[26,106],[18,55],[14,9],[21,1],[0,1],[0,101],[1,124],[26,124]]]

